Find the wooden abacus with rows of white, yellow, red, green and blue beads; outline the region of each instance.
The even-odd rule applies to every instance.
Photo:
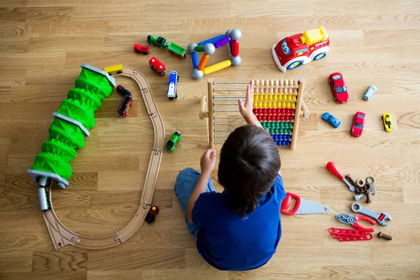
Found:
[[[251,80],[250,83],[252,82],[255,116],[278,146],[290,146],[291,150],[295,150],[299,128],[299,118],[295,116],[309,118],[309,111],[303,101],[304,79]],[[245,98],[246,85],[248,83],[216,83],[212,78],[207,81],[207,97],[202,96],[199,117],[207,120],[209,148],[214,148],[215,144],[223,144],[222,140],[228,138],[228,133],[219,133],[232,132],[232,127],[246,125],[239,108],[231,109],[232,106],[238,106],[237,99]],[[244,94],[232,96],[232,92]]]

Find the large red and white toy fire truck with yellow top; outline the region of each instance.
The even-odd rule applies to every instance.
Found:
[[[323,27],[281,38],[272,48],[274,62],[283,72],[312,60],[323,59],[330,50],[330,39]]]

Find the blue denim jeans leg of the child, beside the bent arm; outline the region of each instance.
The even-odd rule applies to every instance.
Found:
[[[193,193],[195,185],[197,184],[198,177],[200,177],[200,172],[197,172],[197,170],[193,168],[183,169],[183,171],[179,172],[178,176],[176,176],[175,195],[179,199],[179,204],[181,204],[181,209],[185,216],[187,212],[188,200],[190,200],[190,196]],[[206,192],[211,193],[214,191],[213,181],[209,179]],[[188,222],[187,216],[186,224],[190,234],[194,237],[197,237],[198,228],[195,227],[195,225],[192,223]]]

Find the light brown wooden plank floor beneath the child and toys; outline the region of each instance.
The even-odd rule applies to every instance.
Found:
[[[420,2],[417,0],[295,1],[0,1],[0,279],[419,279],[420,278]],[[166,3],[165,3],[166,2]],[[210,3],[214,2],[214,3]],[[323,26],[331,39],[328,57],[281,73],[270,48],[290,34]],[[195,248],[176,197],[176,174],[200,167],[207,130],[198,118],[207,78],[192,80],[190,57],[178,59],[152,47],[137,55],[134,43],[147,34],[187,46],[227,29],[242,31],[242,64],[211,75],[218,81],[305,78],[304,101],[311,118],[302,121],[297,150],[279,148],[286,190],[320,202],[332,214],[282,216],[283,236],[267,265],[249,272],[221,272]],[[155,75],[148,59],[179,71],[176,101],[166,97],[167,76]],[[229,57],[218,50],[211,62]],[[165,153],[153,203],[157,220],[115,248],[55,251],[38,209],[37,186],[26,170],[48,139],[57,110],[80,73],[80,63],[102,68],[122,63],[148,78],[167,137],[183,136]],[[340,71],[348,104],[332,99],[327,78]],[[110,235],[130,221],[140,204],[153,127],[132,80],[118,78],[134,94],[128,118],[116,112],[113,93],[96,113],[85,148],[71,161],[66,190],[54,190],[57,215],[80,235]],[[362,100],[371,84],[378,92]],[[321,120],[329,111],[341,120],[333,129]],[[356,111],[367,113],[360,139],[349,135]],[[384,132],[389,111],[395,129]],[[219,147],[220,149],[220,147]],[[377,195],[369,205],[392,216],[375,232],[392,241],[340,243],[330,227],[346,227],[335,214],[351,213],[352,195],[325,169],[334,161],[345,174],[374,176]],[[212,177],[216,179],[216,171]],[[218,190],[221,190],[220,186]],[[365,225],[363,223],[363,225]],[[349,226],[350,228],[350,226]]]

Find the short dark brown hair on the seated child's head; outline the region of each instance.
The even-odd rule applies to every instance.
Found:
[[[277,146],[262,127],[238,127],[223,144],[218,165],[228,207],[242,218],[253,212],[274,185],[280,165]]]

